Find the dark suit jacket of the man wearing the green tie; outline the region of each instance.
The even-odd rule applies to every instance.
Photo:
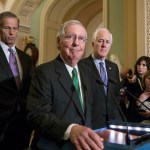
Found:
[[[85,103],[84,113],[73,81],[60,56],[35,70],[27,105],[28,119],[35,127],[33,149],[59,150],[65,147],[66,150],[69,141],[62,138],[70,124],[91,127],[92,91],[95,86],[88,69],[82,65],[78,67]]]

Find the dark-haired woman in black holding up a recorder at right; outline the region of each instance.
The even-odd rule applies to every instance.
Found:
[[[150,58],[148,56],[141,56],[137,59],[134,65],[133,76],[127,76],[124,80],[123,86],[138,98],[143,93],[142,76],[150,70]],[[140,116],[136,108],[136,99],[130,94],[126,93],[129,101],[127,108],[127,120],[129,122],[140,122]]]

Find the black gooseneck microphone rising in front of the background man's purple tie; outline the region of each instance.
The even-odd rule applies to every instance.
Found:
[[[110,79],[108,79],[108,81],[111,82]],[[103,83],[103,81],[101,81],[101,80],[99,80],[99,79],[96,79],[96,82],[97,82],[98,84],[100,84],[100,85],[105,86],[105,87],[109,90],[109,87],[108,87],[107,85],[105,85],[105,84]],[[112,83],[115,83],[115,82],[112,82]],[[115,84],[119,84],[119,83],[116,81]],[[120,85],[119,85],[119,86],[120,86]],[[120,108],[120,105],[119,105],[118,102],[116,101],[116,98],[114,97],[114,95],[111,93],[110,90],[109,90],[109,92],[110,92],[110,94],[111,94],[113,100],[115,101],[116,106],[117,106],[117,108],[118,108],[118,110],[119,110],[119,112],[120,112],[120,114],[121,114],[123,120],[126,122],[126,128],[127,128],[127,130],[126,130],[126,137],[125,137],[125,138],[126,138],[126,144],[127,144],[127,145],[130,145],[130,136],[129,136],[129,126],[128,126],[128,121],[127,121],[127,119],[126,119],[124,113],[122,112],[122,110],[121,110],[121,108]],[[103,94],[104,94],[104,93],[103,93]],[[105,95],[105,94],[104,94],[104,95]]]

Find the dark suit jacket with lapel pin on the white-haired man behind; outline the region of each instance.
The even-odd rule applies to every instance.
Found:
[[[96,65],[93,61],[92,56],[81,60],[82,64],[90,68],[93,78],[98,81],[102,81]],[[119,81],[119,70],[115,63],[105,59],[106,70],[108,79],[114,79],[118,83]],[[93,113],[92,113],[92,124],[94,129],[107,126],[108,121],[122,121],[120,112],[116,105],[119,105],[119,86],[108,81],[107,95],[104,92],[104,86],[97,82],[99,92],[97,93],[99,99],[93,101]],[[116,101],[116,102],[115,102]]]

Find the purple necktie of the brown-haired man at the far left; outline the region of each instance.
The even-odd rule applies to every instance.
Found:
[[[19,76],[19,69],[18,69],[18,65],[17,65],[16,56],[15,56],[15,54],[11,48],[9,48],[8,51],[10,52],[10,54],[9,54],[9,65],[10,65],[10,68],[13,72],[17,88],[19,89],[20,88],[20,76]]]

